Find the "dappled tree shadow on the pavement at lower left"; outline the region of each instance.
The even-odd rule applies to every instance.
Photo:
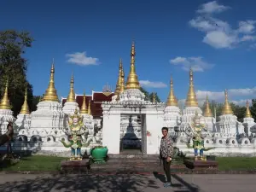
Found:
[[[22,177],[22,176],[20,176]],[[136,175],[51,175],[33,177],[19,182],[3,183],[2,192],[32,192],[32,191],[133,191],[143,189],[159,189],[155,179]]]

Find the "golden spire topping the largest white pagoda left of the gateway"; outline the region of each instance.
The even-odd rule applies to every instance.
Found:
[[[57,90],[55,90],[55,64],[54,61],[52,62],[51,69],[50,69],[50,77],[49,77],[49,85],[48,88],[45,90],[44,98],[42,101],[48,102],[59,102],[57,96]]]

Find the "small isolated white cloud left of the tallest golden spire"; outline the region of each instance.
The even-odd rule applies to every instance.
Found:
[[[73,54],[67,54],[67,62],[71,62],[80,66],[98,65],[99,59],[86,55],[86,52],[76,52]]]

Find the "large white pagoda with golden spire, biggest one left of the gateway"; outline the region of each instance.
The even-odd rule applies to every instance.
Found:
[[[29,140],[32,139],[32,142],[43,141],[45,142],[44,146],[66,137],[63,131],[64,113],[55,90],[54,73],[53,63],[50,70],[49,86],[42,101],[38,103],[38,109],[31,113],[31,127],[26,133]]]

